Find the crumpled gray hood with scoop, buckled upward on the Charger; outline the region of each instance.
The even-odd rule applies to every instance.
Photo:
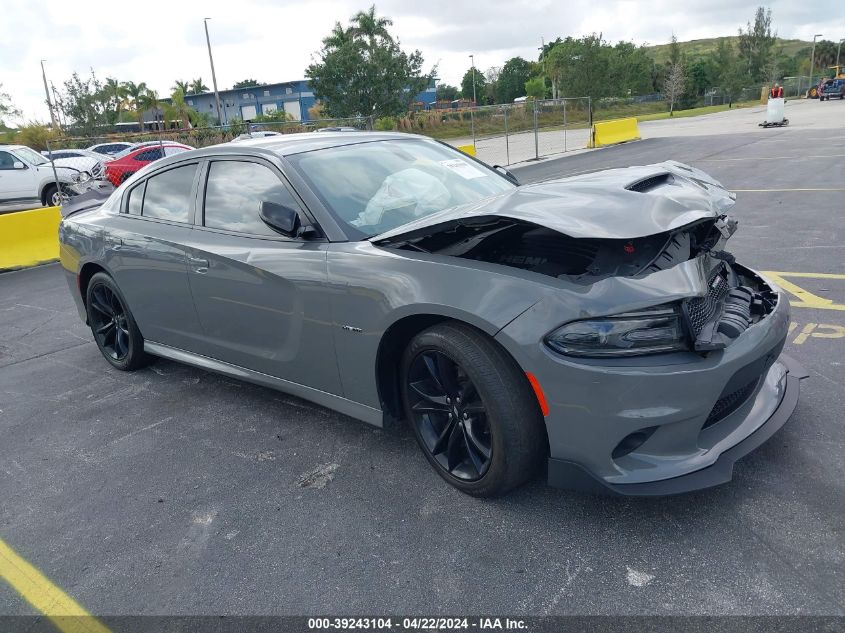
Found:
[[[704,172],[667,161],[523,185],[410,222],[372,241],[395,241],[430,233],[438,225],[490,216],[530,222],[574,238],[634,239],[715,220],[734,201],[734,194]]]

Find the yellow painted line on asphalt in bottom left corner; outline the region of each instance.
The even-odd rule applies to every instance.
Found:
[[[110,633],[79,603],[59,589],[0,539],[0,578],[62,633]]]

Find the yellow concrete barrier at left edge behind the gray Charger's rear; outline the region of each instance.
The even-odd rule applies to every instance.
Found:
[[[59,258],[59,207],[0,215],[0,270]]]

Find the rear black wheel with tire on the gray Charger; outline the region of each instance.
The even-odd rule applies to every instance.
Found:
[[[132,371],[150,362],[144,353],[144,338],[111,277],[105,273],[91,277],[85,304],[97,347],[112,366]]]

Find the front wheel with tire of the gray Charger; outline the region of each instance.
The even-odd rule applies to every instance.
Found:
[[[460,323],[421,332],[402,356],[400,380],[423,454],[458,490],[498,496],[545,464],[537,398],[516,362],[486,334]]]

